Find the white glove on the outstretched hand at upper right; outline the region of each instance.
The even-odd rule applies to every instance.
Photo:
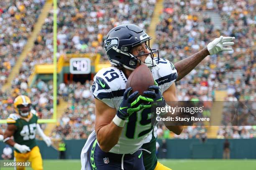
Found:
[[[220,51],[232,51],[232,48],[225,48],[226,46],[234,45],[232,40],[235,40],[235,37],[223,37],[215,38],[212,42],[207,45],[207,50],[210,52],[210,55],[217,54]]]

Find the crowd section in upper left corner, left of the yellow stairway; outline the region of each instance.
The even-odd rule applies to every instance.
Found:
[[[0,1],[0,87],[26,45],[43,5],[44,0]]]

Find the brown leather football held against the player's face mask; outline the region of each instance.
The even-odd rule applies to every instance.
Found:
[[[140,95],[142,95],[151,85],[154,85],[153,75],[149,68],[145,64],[142,64],[133,70],[128,77],[126,89],[128,87],[133,87],[132,92],[138,91]]]

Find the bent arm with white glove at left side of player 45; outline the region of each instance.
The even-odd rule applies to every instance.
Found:
[[[13,136],[13,134],[15,133],[15,130],[17,129],[17,127],[13,124],[8,124],[7,129],[5,130],[4,133],[4,143],[7,143],[8,145],[16,148],[17,150],[20,151],[20,153],[26,153],[28,151],[30,151],[30,148],[26,145],[20,145],[18,143],[15,143],[10,137]]]

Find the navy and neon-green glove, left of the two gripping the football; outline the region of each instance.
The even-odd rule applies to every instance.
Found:
[[[138,91],[133,92],[130,95],[131,90],[133,90],[132,87],[129,87],[125,90],[123,100],[116,113],[116,115],[122,120],[126,120],[131,114],[133,114],[133,112],[138,112],[143,108],[149,108],[154,105],[151,103],[154,102],[153,99],[139,95]],[[149,104],[142,104],[142,102]]]

